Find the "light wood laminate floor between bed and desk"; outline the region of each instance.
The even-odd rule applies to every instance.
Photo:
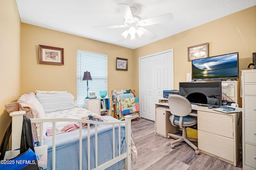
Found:
[[[174,139],[155,135],[154,127],[154,121],[132,120],[132,134],[138,151],[132,170],[242,170],[242,162],[235,167],[203,153],[195,154],[184,142],[172,149],[170,142]]]

